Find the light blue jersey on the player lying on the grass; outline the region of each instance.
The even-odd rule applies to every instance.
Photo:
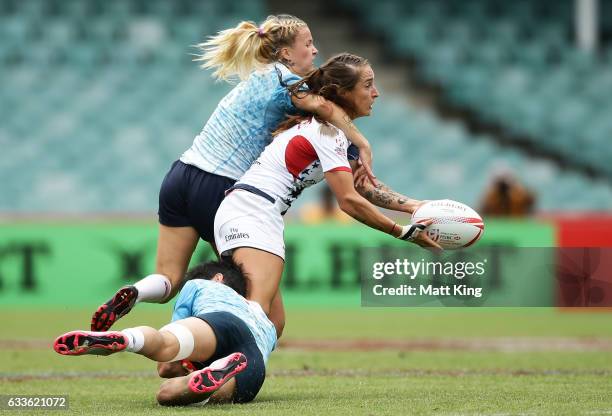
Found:
[[[268,361],[276,345],[276,328],[258,303],[248,301],[234,289],[212,280],[189,280],[181,289],[172,321],[210,312],[228,312],[240,318],[249,327],[257,347]]]

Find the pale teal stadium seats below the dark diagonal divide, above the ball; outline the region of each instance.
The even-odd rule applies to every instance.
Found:
[[[373,116],[357,124],[375,143],[376,160],[384,161],[375,166],[378,177],[416,198],[446,197],[478,207],[489,181],[510,173],[535,192],[541,210],[606,210],[612,204],[605,180],[500,147],[490,137],[471,135],[461,123],[441,122],[384,92]]]

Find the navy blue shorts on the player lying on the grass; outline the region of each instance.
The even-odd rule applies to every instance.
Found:
[[[217,337],[217,349],[206,362],[241,352],[247,358],[246,370],[236,375],[234,403],[252,401],[266,378],[266,365],[255,338],[244,321],[229,312],[210,312],[198,315],[213,329]]]

